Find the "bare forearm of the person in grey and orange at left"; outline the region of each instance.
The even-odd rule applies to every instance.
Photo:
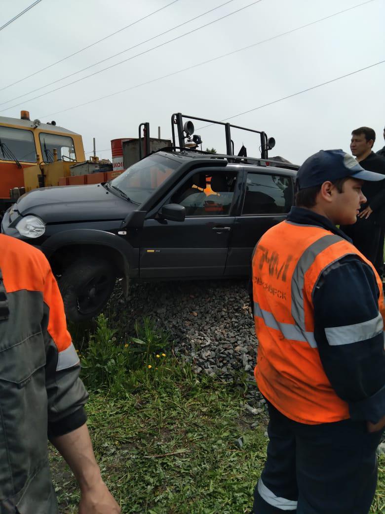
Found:
[[[86,424],[68,434],[52,437],[51,443],[65,458],[81,491],[102,483]]]

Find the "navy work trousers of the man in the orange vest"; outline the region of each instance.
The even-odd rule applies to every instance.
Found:
[[[368,514],[382,432],[350,419],[304,425],[267,405],[267,461],[254,514]]]

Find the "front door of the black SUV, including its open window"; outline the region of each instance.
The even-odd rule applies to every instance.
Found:
[[[207,168],[189,174],[146,219],[140,238],[141,278],[198,278],[223,276],[238,197],[238,174]],[[163,219],[163,205],[186,209],[184,222]]]

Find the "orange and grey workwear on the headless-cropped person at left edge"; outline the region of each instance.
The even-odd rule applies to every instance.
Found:
[[[47,433],[86,421],[87,393],[42,252],[0,234],[0,512],[56,514]]]

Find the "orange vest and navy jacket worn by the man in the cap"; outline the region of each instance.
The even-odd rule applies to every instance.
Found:
[[[385,414],[382,283],[338,232],[294,208],[253,256],[258,387],[288,418],[310,425]]]

